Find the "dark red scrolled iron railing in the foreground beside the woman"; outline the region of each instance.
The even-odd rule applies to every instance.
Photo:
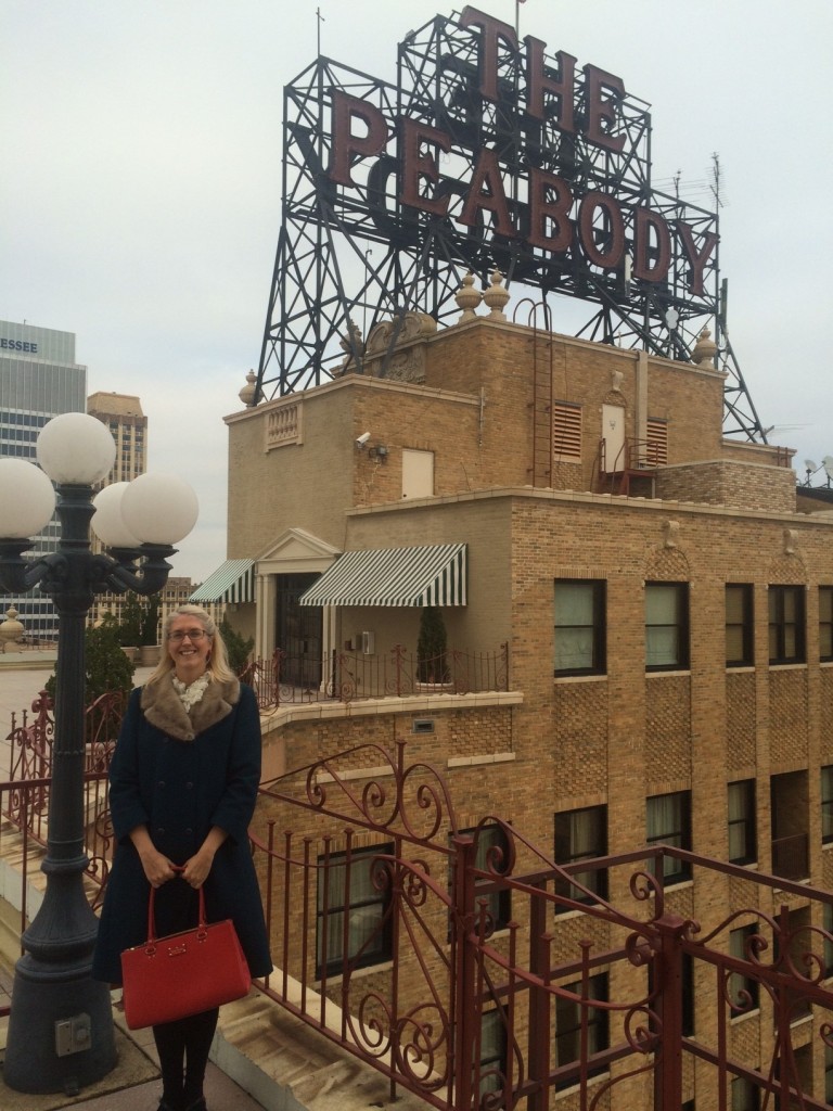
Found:
[[[24,869],[48,791],[0,784],[3,813],[19,799]],[[275,961],[259,989],[391,1098],[548,1111],[569,1091],[579,1111],[724,1111],[734,1081],[764,1109],[829,1105],[811,1078],[833,1060],[830,892],[665,845],[559,867],[500,817],[461,829],[442,774],[409,765],[404,743],[262,788],[250,837]],[[693,885],[666,888],[684,869],[665,858]],[[721,883],[742,900],[714,898]],[[707,921],[688,912],[694,890]]]

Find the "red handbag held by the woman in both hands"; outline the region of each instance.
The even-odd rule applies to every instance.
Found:
[[[157,938],[154,889],[148,902],[148,940],[121,954],[124,1018],[131,1030],[173,1022],[242,999],[251,974],[231,919],[205,922],[200,888],[199,923]]]

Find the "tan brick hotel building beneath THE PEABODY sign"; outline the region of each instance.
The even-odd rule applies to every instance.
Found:
[[[419,607],[395,575],[373,579],[391,549],[413,549],[420,588],[444,591],[451,645],[509,644],[508,689],[478,699],[275,714],[268,774],[408,738],[464,821],[499,813],[558,862],[664,841],[830,888],[833,518],[796,497],[790,451],[723,438],[705,332],[694,361],[665,360],[514,323],[498,288],[489,314],[441,331],[409,314],[392,356],[369,336],[363,373],[348,357],[331,382],[228,418],[229,556],[255,573],[233,620],[258,654],[294,638],[327,660],[360,632],[364,654],[415,649]],[[727,878],[665,879],[683,917],[739,898]],[[800,897],[780,902],[830,925]],[[556,948],[593,932],[582,918],[556,919]],[[704,1030],[716,1019],[700,987]],[[733,1028],[751,1067],[766,1022],[762,1002]],[[807,1090],[830,1098],[821,1022],[794,1044]],[[716,1107],[693,1067],[685,1088],[686,1107]],[[731,1105],[753,1098],[739,1081]]]

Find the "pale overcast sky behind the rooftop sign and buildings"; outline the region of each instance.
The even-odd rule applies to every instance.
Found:
[[[282,90],[315,58],[317,8],[324,54],[391,80],[404,34],[462,7],[0,0],[0,318],[76,332],[89,392],[140,396],[150,469],[200,498],[177,573],[201,580],[225,556],[222,418],[260,356]],[[474,7],[514,22],[514,0]],[[833,4],[528,0],[520,21],[549,53],[651,103],[654,182],[682,171],[683,197],[711,207],[720,156],[732,343],[771,440],[797,449],[802,472],[821,463],[833,454]]]

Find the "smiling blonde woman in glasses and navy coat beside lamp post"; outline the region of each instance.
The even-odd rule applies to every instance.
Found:
[[[228,663],[222,638],[198,605],[164,622],[162,660],[133,691],[110,764],[116,837],[92,974],[121,983],[121,952],[157,932],[197,924],[204,884],[209,921],[231,918],[253,977],[272,971],[248,842],[260,782],[254,693]],[[159,1111],[205,1111],[202,1084],[218,1009],[153,1027],[162,1070]]]

